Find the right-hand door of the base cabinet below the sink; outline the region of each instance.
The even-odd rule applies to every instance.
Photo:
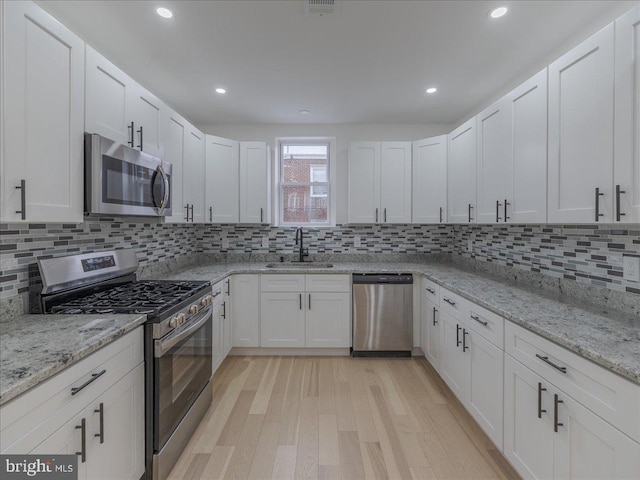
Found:
[[[306,347],[349,347],[351,294],[306,294]]]

